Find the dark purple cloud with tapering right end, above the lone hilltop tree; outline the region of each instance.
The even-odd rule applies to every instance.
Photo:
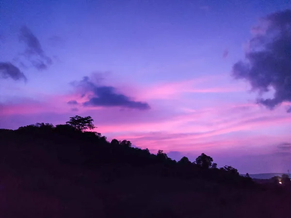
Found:
[[[88,77],[84,77],[80,82],[73,83],[81,88],[81,95],[90,93],[89,100],[83,106],[104,106],[104,107],[123,107],[130,109],[150,109],[146,102],[133,101],[128,96],[117,93],[112,86],[97,85]]]

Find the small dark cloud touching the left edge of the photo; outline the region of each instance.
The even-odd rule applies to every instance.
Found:
[[[10,62],[0,62],[0,77],[4,79],[12,78],[14,80],[27,80],[19,68]]]

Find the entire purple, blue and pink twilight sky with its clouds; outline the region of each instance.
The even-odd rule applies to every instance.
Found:
[[[0,0],[0,128],[91,116],[108,140],[291,170],[289,0]]]

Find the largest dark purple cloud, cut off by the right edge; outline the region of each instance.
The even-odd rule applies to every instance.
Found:
[[[245,61],[233,65],[236,79],[245,79],[252,91],[259,93],[257,103],[274,109],[283,102],[291,102],[291,10],[271,14],[253,28]],[[275,91],[273,98],[261,94]],[[288,110],[291,112],[291,109]]]

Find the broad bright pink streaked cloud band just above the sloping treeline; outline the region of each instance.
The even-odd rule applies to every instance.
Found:
[[[134,125],[131,130],[130,127],[124,129],[124,132],[128,133],[120,134],[118,139],[129,139],[134,144],[149,148],[162,147],[165,149],[164,147],[166,147],[171,150],[177,146],[176,150],[178,148],[178,151],[180,151],[180,149],[183,149],[183,144],[185,144],[185,149],[187,150],[189,149],[189,144],[193,141],[197,142],[198,140],[200,141],[199,143],[202,143],[209,139],[221,138],[225,134],[227,135],[226,138],[230,138],[231,143],[235,144],[238,141],[234,143],[233,137],[229,134],[246,132],[248,135],[252,135],[252,131],[262,131],[264,129],[268,132],[267,129],[270,127],[289,125],[291,121],[291,117],[282,116],[279,112],[270,115],[267,113],[269,111],[260,110],[259,107],[253,107],[250,110],[253,111],[242,110],[241,113],[236,115],[230,114],[230,119],[228,119],[229,110],[217,112],[216,115],[216,110],[207,110],[204,115],[201,111],[197,114],[173,117],[171,121],[159,122],[156,125],[154,123]],[[213,124],[212,118],[215,117],[217,120]],[[196,124],[189,124],[191,120],[194,120]],[[134,131],[133,129],[136,130]],[[245,137],[245,134],[242,135]],[[238,136],[236,137],[238,138]],[[239,138],[239,140],[243,140],[243,138]],[[209,142],[207,144],[211,146]]]

